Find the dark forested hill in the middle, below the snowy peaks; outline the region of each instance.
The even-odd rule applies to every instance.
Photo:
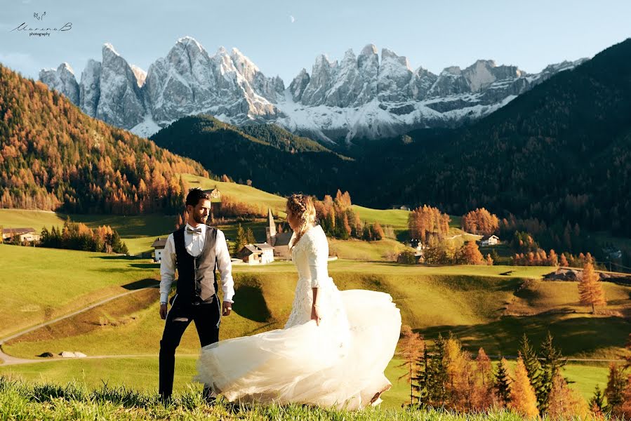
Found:
[[[151,138],[171,152],[199,161],[216,174],[252,180],[266,192],[336,192],[349,159],[281,128],[237,128],[213,116],[187,116]]]

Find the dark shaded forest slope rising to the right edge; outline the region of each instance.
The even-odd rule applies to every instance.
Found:
[[[631,234],[631,39],[541,83],[468,128],[416,131],[381,159],[373,203],[476,206]],[[361,163],[360,163],[361,165]],[[403,168],[401,171],[400,168]],[[392,189],[391,183],[404,186]]]

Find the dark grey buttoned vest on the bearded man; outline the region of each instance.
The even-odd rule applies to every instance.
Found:
[[[217,281],[215,281],[217,229],[206,228],[204,248],[201,249],[197,258],[194,258],[186,250],[185,228],[186,226],[173,232],[175,257],[178,265],[178,301],[182,300],[182,304],[212,302],[213,296],[217,292]]]

